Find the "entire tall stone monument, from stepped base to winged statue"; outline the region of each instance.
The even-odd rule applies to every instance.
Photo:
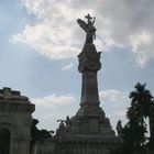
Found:
[[[61,120],[54,139],[56,154],[107,154],[120,142],[99,107],[97,72],[101,68],[101,53],[94,44],[95,18],[89,14],[85,18],[87,23],[77,20],[86,32],[86,42],[78,55],[78,70],[82,77],[80,108],[76,116]]]

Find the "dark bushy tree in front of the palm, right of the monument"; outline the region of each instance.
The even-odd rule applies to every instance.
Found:
[[[127,112],[129,122],[123,128],[124,148],[129,154],[144,153],[143,145],[146,141],[146,124],[144,122],[141,106],[132,103]]]

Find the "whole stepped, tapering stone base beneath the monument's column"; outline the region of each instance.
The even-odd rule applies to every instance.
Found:
[[[81,107],[55,136],[56,154],[108,154],[120,143],[99,107]]]

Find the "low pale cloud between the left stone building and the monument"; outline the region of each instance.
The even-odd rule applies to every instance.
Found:
[[[40,120],[40,128],[57,129],[57,119],[65,119],[70,116],[76,107],[76,98],[72,95],[51,95],[42,98],[33,98],[31,102],[35,105],[33,117]]]

